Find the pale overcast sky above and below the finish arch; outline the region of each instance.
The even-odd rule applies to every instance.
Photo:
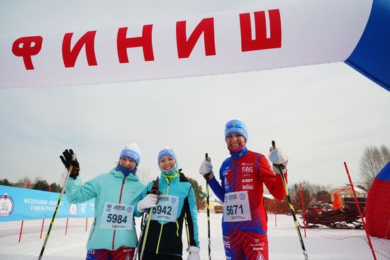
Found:
[[[0,1],[0,33],[96,29],[129,21],[238,9],[255,1]],[[324,43],[326,44],[326,43]],[[0,79],[1,80],[1,79]],[[289,183],[360,181],[365,147],[390,147],[390,93],[343,63],[121,84],[0,90],[0,179],[59,182],[59,156],[72,148],[84,181],[112,169],[136,142],[140,168],[155,178],[170,146],[202,186],[208,152],[218,171],[229,156],[223,128],[248,128],[248,149],[268,155],[271,140],[289,157]]]

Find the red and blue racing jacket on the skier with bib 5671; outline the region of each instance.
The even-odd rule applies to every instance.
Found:
[[[216,196],[224,202],[223,230],[237,229],[267,234],[267,215],[263,206],[264,186],[279,200],[286,197],[282,176],[275,174],[264,155],[247,150],[231,153],[215,177],[209,181]],[[287,177],[287,173],[284,173]],[[225,201],[226,200],[226,201]],[[249,213],[250,212],[250,213]]]

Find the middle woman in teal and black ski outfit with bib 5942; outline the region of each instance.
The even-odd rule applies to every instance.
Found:
[[[161,170],[158,181],[160,196],[158,204],[150,210],[150,223],[140,238],[140,244],[145,244],[140,249],[140,259],[182,260],[182,228],[186,215],[189,239],[187,260],[199,260],[198,207],[194,188],[179,172],[177,156],[171,148],[165,147],[159,152],[157,164]],[[147,196],[157,198],[150,193],[153,183],[148,183],[143,191],[143,197],[146,197],[138,203],[138,210],[150,208],[143,205]]]

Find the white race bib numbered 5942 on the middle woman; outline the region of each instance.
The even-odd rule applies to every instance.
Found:
[[[152,220],[176,222],[179,197],[173,195],[160,195],[158,203],[153,208]]]

